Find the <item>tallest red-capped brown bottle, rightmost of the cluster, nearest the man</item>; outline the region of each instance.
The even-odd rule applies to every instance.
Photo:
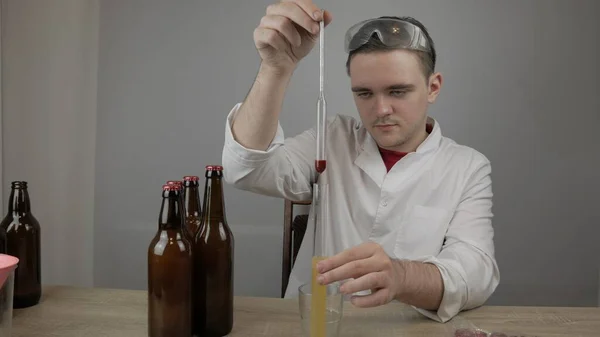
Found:
[[[234,239],[225,216],[223,168],[206,167],[202,224],[196,234],[194,333],[221,337],[233,328]]]

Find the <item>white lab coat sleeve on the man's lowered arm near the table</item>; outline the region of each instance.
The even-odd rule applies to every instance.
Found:
[[[441,252],[422,259],[438,267],[444,294],[437,311],[415,309],[439,322],[483,305],[500,280],[494,257],[491,166],[487,159],[479,159],[466,180]]]

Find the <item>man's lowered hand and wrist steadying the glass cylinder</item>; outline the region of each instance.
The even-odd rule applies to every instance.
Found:
[[[317,264],[318,281],[330,284],[350,278],[340,287],[343,294],[371,290],[370,295],[353,296],[357,307],[375,307],[398,301],[423,309],[436,310],[444,284],[433,264],[391,259],[373,242],[363,243]]]

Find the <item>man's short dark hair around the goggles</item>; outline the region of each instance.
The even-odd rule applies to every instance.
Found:
[[[417,19],[412,18],[410,16],[403,16],[403,17],[381,16],[380,19],[397,19],[397,20],[406,21],[408,23],[412,23],[413,25],[419,27],[423,31],[423,33],[425,34],[425,38],[427,39],[427,43],[430,45],[431,52],[426,53],[426,52],[422,52],[420,50],[412,50],[412,49],[410,49],[410,51],[417,54],[417,56],[419,57],[419,60],[421,61],[421,67],[422,67],[423,73],[425,74],[425,78],[426,79],[429,78],[429,76],[431,76],[431,74],[433,74],[433,72],[435,71],[436,52],[435,52],[435,46],[433,44],[433,39],[431,39],[431,36],[429,36],[429,32],[427,31],[427,28],[425,28],[425,26],[420,21],[418,21]],[[371,53],[371,52],[377,52],[377,51],[390,51],[390,50],[396,50],[396,49],[401,49],[401,48],[386,46],[384,43],[381,42],[381,40],[379,40],[379,37],[377,36],[377,34],[373,33],[373,35],[371,36],[371,38],[369,39],[369,41],[367,43],[365,43],[364,45],[360,46],[356,50],[353,50],[349,53],[348,60],[346,61],[346,72],[348,73],[348,75],[350,75],[350,61],[352,60],[352,57],[356,54]]]

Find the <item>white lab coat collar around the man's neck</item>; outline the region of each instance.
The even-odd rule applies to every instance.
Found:
[[[425,156],[435,152],[442,142],[442,131],[437,121],[431,117],[427,117],[427,124],[432,124],[433,129],[425,140],[417,147],[417,150],[412,154],[416,156]],[[361,168],[373,181],[381,188],[383,179],[387,174],[387,169],[381,159],[377,142],[366,130],[364,125],[361,127],[365,134],[363,141],[358,149],[358,156],[354,160],[354,164]]]

